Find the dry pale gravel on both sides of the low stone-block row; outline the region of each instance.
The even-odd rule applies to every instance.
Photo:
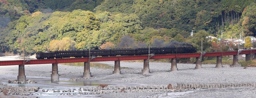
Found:
[[[81,79],[84,67],[58,65],[60,80],[80,79],[81,81],[97,81],[99,83],[113,83],[117,85],[165,85],[176,83],[256,83],[256,68],[254,67],[223,67],[215,68],[215,65],[202,65],[201,69],[194,69],[195,64],[177,64],[178,71],[170,72],[171,63],[149,63],[150,72],[141,74],[143,63],[120,62],[121,74],[112,74],[114,61],[100,62],[110,64],[111,67],[90,67],[92,78]],[[224,65],[227,66],[227,65]],[[25,65],[27,79],[50,81],[52,71],[51,64]],[[0,66],[0,82],[15,80],[18,75],[18,66]],[[11,76],[6,77],[5,75]],[[40,78],[38,78],[40,77]],[[48,83],[51,84],[51,83]],[[55,85],[55,84],[52,84]],[[86,87],[86,86],[78,86]],[[140,92],[140,93],[109,93],[99,94],[97,98],[172,98],[172,97],[226,97],[226,98],[253,98],[256,96],[255,87],[211,88],[179,93],[168,92]],[[1,97],[1,95],[0,95]],[[2,96],[3,97],[3,96]],[[64,96],[65,97],[65,96]]]

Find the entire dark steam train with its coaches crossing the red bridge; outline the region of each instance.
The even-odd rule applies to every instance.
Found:
[[[148,48],[136,49],[103,49],[103,50],[90,50],[90,56],[134,56],[148,54]],[[195,53],[194,47],[163,47],[163,48],[150,48],[150,53],[153,54],[181,54],[181,53]],[[69,57],[89,57],[89,50],[70,50],[70,51],[56,51],[56,52],[38,52],[36,53],[37,59],[61,59]]]

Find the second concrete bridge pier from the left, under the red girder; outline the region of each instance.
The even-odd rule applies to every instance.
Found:
[[[51,82],[59,82],[58,64],[52,64]]]

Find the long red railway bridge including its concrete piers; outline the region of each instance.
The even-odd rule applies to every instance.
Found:
[[[120,74],[120,61],[123,60],[144,60],[144,68],[142,74],[147,74],[149,70],[149,59],[171,59],[171,71],[178,71],[176,59],[196,57],[195,69],[201,67],[202,57],[217,57],[216,68],[222,67],[222,56],[233,55],[233,65],[238,65],[238,55],[245,54],[245,60],[251,60],[251,54],[256,55],[256,49],[242,50],[242,51],[229,51],[229,52],[210,52],[210,53],[189,53],[189,54],[164,54],[164,55],[143,55],[143,56],[115,56],[115,57],[90,57],[90,58],[67,58],[67,59],[45,59],[45,60],[12,60],[0,61],[0,66],[5,65],[19,65],[18,81],[26,80],[25,65],[29,64],[52,64],[51,81],[59,82],[58,63],[77,63],[84,62],[84,78],[91,77],[90,62],[99,61],[115,61],[115,68],[113,74]]]

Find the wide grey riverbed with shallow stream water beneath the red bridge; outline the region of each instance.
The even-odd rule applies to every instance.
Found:
[[[0,60],[22,59],[16,56],[0,57]],[[256,68],[254,67],[227,67],[215,68],[215,65],[202,65],[201,69],[194,69],[195,64],[177,64],[178,71],[170,72],[171,63],[149,63],[150,73],[141,74],[143,63],[120,62],[121,74],[112,74],[114,61],[98,62],[97,66],[91,64],[90,72],[92,78],[84,79],[84,67],[58,64],[59,83],[51,83],[51,64],[25,65],[25,75],[29,80],[37,83],[10,84],[8,80],[16,80],[18,65],[0,66],[0,87],[39,87],[37,92],[30,95],[4,95],[0,97],[83,97],[83,98],[251,98],[256,96]],[[96,64],[96,63],[94,63]],[[107,65],[105,65],[107,64]],[[74,81],[77,80],[77,81]],[[157,89],[138,89],[139,87],[167,87],[168,84],[243,84],[251,83],[250,86],[227,86],[209,87],[207,89],[185,89],[185,91]],[[84,89],[95,88],[99,85],[107,87],[137,87],[136,89],[124,90],[122,92],[101,91],[99,94]],[[106,88],[106,87],[105,87]],[[58,92],[58,90],[60,92]],[[69,92],[69,91],[71,92]],[[129,91],[130,90],[130,91]],[[44,92],[45,91],[45,92]],[[47,92],[46,92],[47,91]],[[66,92],[67,91],[67,92]],[[103,93],[102,92],[107,92]],[[89,93],[89,94],[88,94]],[[33,94],[33,95],[32,95]]]

